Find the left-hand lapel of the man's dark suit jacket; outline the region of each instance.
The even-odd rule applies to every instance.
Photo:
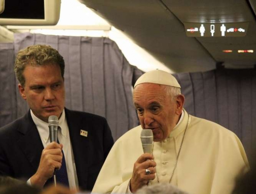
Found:
[[[44,146],[36,125],[30,115],[30,110],[22,119],[22,123],[18,128],[18,131],[21,133],[21,137],[17,144],[24,155],[26,155],[33,168],[37,170]]]

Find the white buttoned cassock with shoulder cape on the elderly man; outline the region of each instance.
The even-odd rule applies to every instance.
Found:
[[[143,154],[141,130],[142,127],[137,126],[115,142],[92,193],[126,193],[129,190],[133,165]],[[159,182],[169,182],[183,136],[178,164],[170,183],[190,194],[230,194],[236,177],[249,168],[241,141],[230,130],[188,116],[185,110],[184,118],[169,137],[154,142]],[[157,178],[149,184],[158,184]]]

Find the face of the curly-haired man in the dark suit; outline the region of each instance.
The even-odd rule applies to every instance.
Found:
[[[60,117],[65,105],[64,80],[56,64],[27,65],[24,69],[25,86],[18,85],[36,117],[48,122],[48,117]]]

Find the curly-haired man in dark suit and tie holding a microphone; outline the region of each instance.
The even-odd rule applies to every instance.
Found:
[[[50,46],[18,52],[18,89],[30,110],[0,129],[0,175],[42,188],[53,182],[54,171],[66,172],[70,188],[90,191],[113,138],[104,117],[65,108],[64,69],[63,57]],[[59,118],[59,142],[50,143],[51,115]]]

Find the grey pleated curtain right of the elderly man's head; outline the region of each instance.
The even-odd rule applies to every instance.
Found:
[[[256,68],[174,74],[188,113],[236,133],[249,161],[256,150]]]

